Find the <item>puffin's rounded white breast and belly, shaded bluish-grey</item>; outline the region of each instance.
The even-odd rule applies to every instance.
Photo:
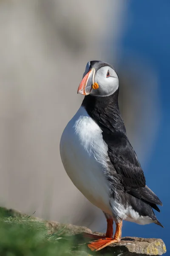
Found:
[[[60,141],[63,166],[74,185],[105,212],[111,214],[109,188],[104,171],[108,168],[108,146],[102,130],[80,107],[66,126]]]

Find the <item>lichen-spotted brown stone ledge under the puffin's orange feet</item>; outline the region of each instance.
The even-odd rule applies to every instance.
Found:
[[[26,214],[22,214],[21,212],[14,209],[4,209],[10,216],[26,216]],[[73,241],[74,238],[74,241],[76,242],[76,244],[72,244],[72,252],[68,252],[68,256],[151,256],[162,255],[166,253],[166,246],[161,239],[138,237],[122,237],[118,244],[112,244],[111,246],[108,246],[103,250],[94,253],[87,246],[87,243],[90,240],[85,241],[82,239],[82,232],[92,233],[92,231],[87,227],[75,226],[71,224],[61,224],[57,221],[45,221],[40,218],[34,219],[37,221],[43,221],[48,227],[50,233],[56,233],[57,231],[62,230],[64,227],[64,232],[63,234],[60,234],[60,236],[64,235],[65,238],[71,239],[71,241]],[[94,234],[104,235],[97,232],[94,232]]]

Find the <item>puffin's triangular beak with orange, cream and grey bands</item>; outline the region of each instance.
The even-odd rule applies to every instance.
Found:
[[[81,83],[79,84],[79,88],[77,93],[81,93],[83,95],[88,95],[91,93],[92,86],[94,84],[94,75],[95,69],[94,67],[83,77]]]

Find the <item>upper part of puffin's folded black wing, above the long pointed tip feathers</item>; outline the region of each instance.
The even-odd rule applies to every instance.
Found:
[[[108,145],[111,163],[116,172],[121,175],[125,189],[130,192],[133,189],[144,187],[146,185],[144,173],[127,137],[122,134],[106,133],[102,133],[102,136]],[[137,191],[134,193],[138,194]]]

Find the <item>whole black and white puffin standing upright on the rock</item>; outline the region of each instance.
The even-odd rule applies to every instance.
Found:
[[[84,234],[93,239],[88,247],[98,251],[121,240],[123,220],[163,227],[153,212],[160,212],[157,205],[162,203],[146,185],[127,138],[114,68],[103,61],[89,61],[77,93],[85,97],[62,133],[60,156],[77,189],[105,214],[105,236]]]

